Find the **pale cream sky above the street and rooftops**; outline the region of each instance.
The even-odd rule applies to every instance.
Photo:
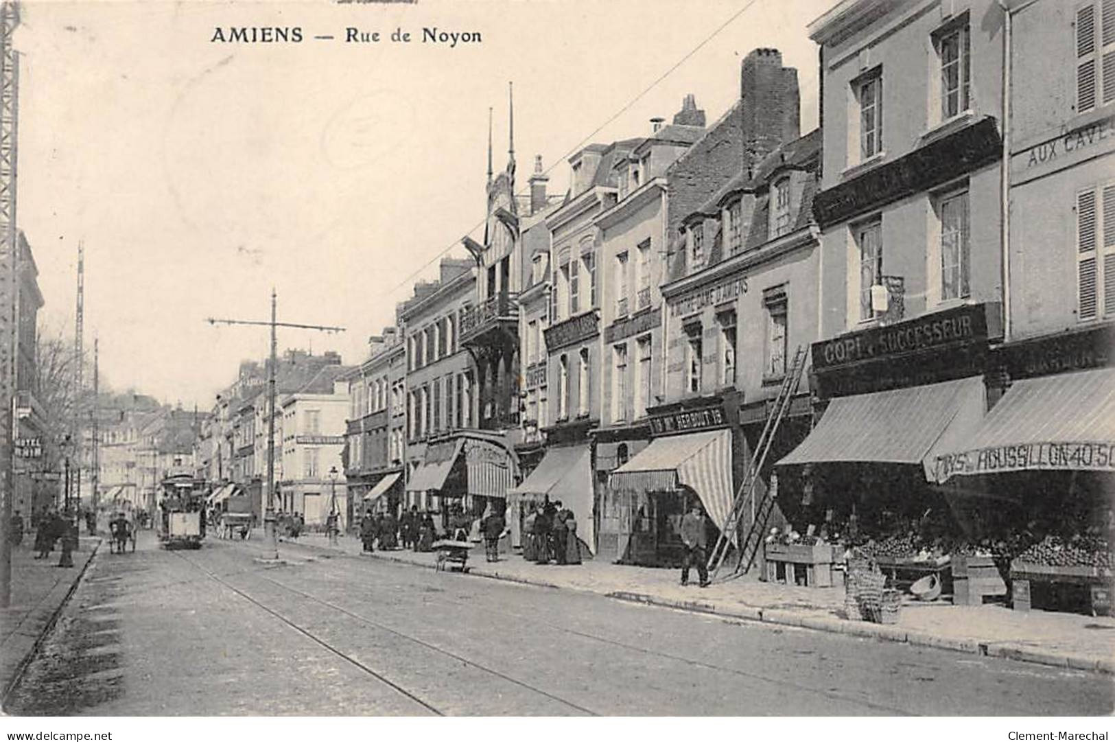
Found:
[[[268,337],[204,319],[266,319],[272,286],[280,320],[348,328],[281,330],[280,349],[359,363],[410,296],[408,277],[484,218],[487,109],[498,170],[508,80],[520,190],[541,154],[546,167],[561,158],[550,191],[564,192],[563,155],[746,4],[25,1],[18,222],[39,264],[41,318],[72,334],[81,240],[85,343],[99,337],[117,391],[210,408]],[[687,93],[711,124],[755,47],[797,68],[811,131],[817,49],[805,27],[831,4],[756,0],[593,141],[648,134]],[[304,39],[211,42],[229,26],[300,26]],[[345,44],[348,26],[382,40]],[[423,44],[423,27],[483,41]],[[396,28],[414,41],[391,44]]]

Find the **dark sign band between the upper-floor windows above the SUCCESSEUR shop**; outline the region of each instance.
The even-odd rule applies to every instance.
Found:
[[[825,189],[813,199],[813,215],[821,229],[828,229],[871,209],[947,183],[1001,156],[998,126],[993,117],[987,116],[894,162]]]

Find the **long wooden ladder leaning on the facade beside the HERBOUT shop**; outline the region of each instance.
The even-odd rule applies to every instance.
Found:
[[[747,538],[739,543],[737,550],[739,560],[733,572],[725,577],[725,579],[731,579],[733,577],[746,574],[755,562],[755,556],[758,552],[759,545],[763,543],[763,533],[766,531],[766,523],[770,517],[770,511],[774,510],[775,503],[775,493],[770,489],[767,489],[764,498],[756,505],[755,485],[758,483],[759,472],[763,470],[764,463],[766,463],[767,454],[770,453],[770,446],[774,444],[778,426],[789,412],[794,395],[797,394],[797,387],[802,380],[802,372],[805,369],[807,351],[805,346],[797,346],[789,370],[782,379],[782,388],[778,389],[774,407],[770,414],[767,415],[766,422],[763,425],[763,433],[759,435],[758,444],[755,446],[752,465],[748,468],[747,475],[744,476],[743,483],[740,483],[739,489],[736,491],[736,498],[731,503],[731,511],[728,513],[728,518],[720,529],[720,538],[717,539],[716,546],[712,547],[712,552],[709,555],[708,570],[712,579],[716,579],[720,568],[724,566],[725,558],[728,556],[728,551],[739,532],[745,513],[753,515],[750,528],[747,531]]]

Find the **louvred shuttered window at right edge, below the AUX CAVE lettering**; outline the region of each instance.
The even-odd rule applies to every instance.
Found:
[[[1076,247],[1077,318],[1115,314],[1115,183],[1077,194]]]

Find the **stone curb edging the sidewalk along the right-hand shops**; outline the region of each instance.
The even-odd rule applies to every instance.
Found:
[[[317,546],[309,543],[304,546],[314,549],[328,549],[330,551],[339,551],[339,549],[333,549],[327,546]],[[411,567],[434,569],[434,565],[425,565],[418,561],[413,561],[410,559],[405,559],[403,557],[392,556],[390,553],[384,553],[377,551],[369,556],[375,559],[384,559],[386,561],[394,561],[400,565],[409,565]],[[782,608],[755,608],[750,606],[719,608],[714,604],[704,603],[700,600],[675,600],[671,598],[660,598],[643,592],[631,592],[627,590],[613,590],[610,592],[601,592],[599,590],[593,590],[589,588],[575,588],[563,585],[554,585],[552,582],[545,582],[539,579],[523,578],[511,575],[501,575],[498,571],[488,571],[487,569],[484,568],[477,569],[475,567],[472,567],[469,568],[468,574],[475,575],[477,577],[485,577],[488,579],[504,580],[507,582],[517,582],[520,585],[533,585],[535,587],[545,587],[559,590],[574,590],[578,592],[590,592],[593,595],[602,595],[605,598],[612,598],[614,600],[624,600],[627,603],[639,603],[649,606],[658,606],[661,608],[675,608],[677,610],[708,614],[712,616],[721,616],[724,618],[752,620],[762,624],[770,624],[774,626],[792,626],[795,628],[806,628],[816,632],[827,632],[831,634],[844,634],[846,636],[859,636],[862,638],[878,639],[880,642],[896,642],[902,644],[909,644],[911,646],[931,647],[933,649],[948,649],[950,652],[960,652],[963,654],[975,654],[988,657],[1000,657],[1005,659],[1014,659],[1016,662],[1025,662],[1037,665],[1067,667],[1073,669],[1083,669],[1094,673],[1101,673],[1105,675],[1115,675],[1115,659],[1096,659],[1094,657],[1087,657],[1087,656],[1061,654],[1057,652],[1037,649],[1034,647],[1016,645],[1005,642],[992,642],[992,640],[981,642],[979,639],[971,639],[963,637],[938,636],[935,634],[927,634],[924,632],[911,630],[894,625],[870,624],[866,621],[845,620],[842,618],[828,618],[825,616],[803,616],[802,614],[792,610],[785,610]]]

